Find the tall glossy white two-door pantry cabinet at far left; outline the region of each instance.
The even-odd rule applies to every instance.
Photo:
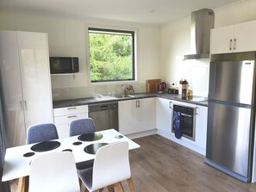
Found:
[[[7,147],[21,146],[29,126],[53,122],[47,34],[0,31],[0,71]]]

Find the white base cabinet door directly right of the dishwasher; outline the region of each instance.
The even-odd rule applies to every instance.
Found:
[[[118,102],[119,132],[131,134],[137,132],[136,100]]]

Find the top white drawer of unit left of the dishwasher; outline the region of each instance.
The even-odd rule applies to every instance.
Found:
[[[88,105],[79,105],[79,106],[72,106],[67,108],[53,109],[54,117],[62,116],[62,115],[83,114],[83,113],[88,113]]]

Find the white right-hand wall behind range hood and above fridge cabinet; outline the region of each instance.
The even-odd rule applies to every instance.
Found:
[[[215,28],[256,20],[256,1],[244,1],[215,9]],[[172,84],[186,78],[193,94],[208,96],[209,59],[177,60],[190,53],[190,16],[161,28],[161,77]]]

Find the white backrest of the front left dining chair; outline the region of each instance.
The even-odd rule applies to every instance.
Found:
[[[29,192],[80,192],[72,152],[42,155],[30,164]]]

